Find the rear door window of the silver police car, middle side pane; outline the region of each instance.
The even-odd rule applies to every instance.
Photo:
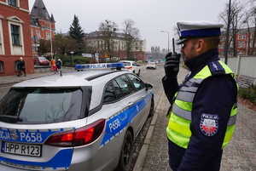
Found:
[[[131,83],[129,82],[128,78],[125,77],[125,75],[121,77],[117,77],[116,83],[118,83],[120,90],[122,91],[123,95],[128,95],[134,92],[134,89],[131,86]]]

